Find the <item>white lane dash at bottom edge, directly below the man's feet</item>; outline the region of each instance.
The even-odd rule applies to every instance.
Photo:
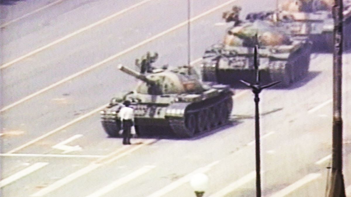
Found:
[[[152,170],[153,168],[155,168],[154,165],[144,166],[144,167],[138,169],[137,171],[134,171],[131,174],[129,174],[129,175],[125,176],[125,177],[122,177],[122,178],[118,179],[117,181],[114,181],[114,182],[106,185],[105,187],[95,191],[94,193],[92,193],[91,195],[88,195],[86,197],[99,197],[99,196],[102,196],[102,195],[112,191],[113,189],[117,188],[118,186],[121,186],[121,185],[123,185],[125,183],[128,183],[131,180],[133,180],[134,178],[137,178],[138,176],[145,174],[146,172]]]

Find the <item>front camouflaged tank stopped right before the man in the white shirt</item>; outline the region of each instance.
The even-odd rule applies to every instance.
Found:
[[[154,69],[140,74],[128,67],[119,69],[140,80],[137,87],[122,97],[113,98],[101,111],[101,123],[111,137],[119,136],[119,111],[125,100],[134,108],[135,129],[139,135],[153,133],[155,126],[170,127],[179,137],[192,137],[224,125],[232,111],[233,92],[229,86],[208,86],[187,66]]]

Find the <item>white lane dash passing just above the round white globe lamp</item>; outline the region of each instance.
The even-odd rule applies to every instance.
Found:
[[[147,196],[147,197],[160,197],[165,195],[166,193],[176,189],[177,187],[179,187],[180,185],[183,185],[187,182],[190,181],[190,179],[192,178],[192,176],[194,176],[195,174],[198,173],[205,173],[208,170],[210,170],[214,165],[217,165],[219,163],[219,161],[215,161],[212,162],[210,164],[208,164],[205,167],[196,169],[195,171],[191,172],[190,174],[185,175],[184,177],[181,177],[180,179],[178,179],[177,181],[172,182],[171,184],[165,186],[164,188],[152,193],[151,195]]]

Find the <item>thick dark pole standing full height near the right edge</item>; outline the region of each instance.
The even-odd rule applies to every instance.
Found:
[[[342,120],[342,53],[343,53],[343,1],[335,0],[334,50],[333,50],[333,140],[332,173],[329,197],[345,197],[343,169],[343,120]]]

